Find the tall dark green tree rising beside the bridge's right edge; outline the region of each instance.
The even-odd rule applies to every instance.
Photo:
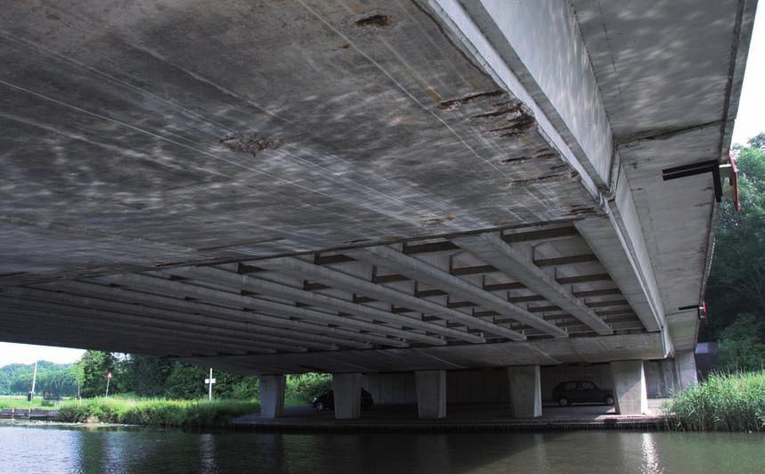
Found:
[[[720,337],[739,314],[765,315],[765,134],[736,154],[741,211],[728,201],[720,207],[703,340]]]

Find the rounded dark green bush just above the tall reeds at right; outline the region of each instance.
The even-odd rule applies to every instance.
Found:
[[[728,371],[759,371],[765,368],[765,322],[754,315],[738,315],[720,334],[720,366]]]

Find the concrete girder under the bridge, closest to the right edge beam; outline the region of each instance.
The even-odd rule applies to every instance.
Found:
[[[492,262],[502,273],[508,274],[519,282],[523,282],[529,290],[541,295],[553,305],[560,307],[567,314],[574,316],[587,324],[600,335],[613,334],[611,327],[604,323],[582,301],[545,274],[533,259],[527,258],[522,252],[510,247],[502,240],[499,233],[482,233],[459,237],[453,240],[460,248],[486,262]]]

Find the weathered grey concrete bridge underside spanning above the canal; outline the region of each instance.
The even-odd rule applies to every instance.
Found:
[[[8,5],[0,339],[619,391],[696,345],[755,6]]]

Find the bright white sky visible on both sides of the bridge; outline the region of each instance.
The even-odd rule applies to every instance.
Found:
[[[747,140],[765,132],[765,7],[760,5],[754,20],[752,43],[746,61],[744,86],[738,105],[733,143],[745,144]],[[0,342],[0,367],[6,364],[32,364],[46,360],[58,364],[75,362],[85,352],[64,347],[28,346]]]

